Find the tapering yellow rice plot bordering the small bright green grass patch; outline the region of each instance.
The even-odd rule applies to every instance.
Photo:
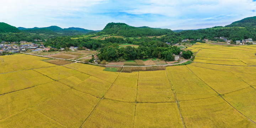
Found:
[[[116,80],[119,73],[103,71],[103,67],[89,65],[89,64],[81,64],[81,63],[73,63],[64,65],[67,68],[75,69],[81,71],[82,73],[86,73],[97,78],[103,79],[105,81],[113,83]]]

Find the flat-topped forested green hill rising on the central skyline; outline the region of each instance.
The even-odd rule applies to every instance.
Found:
[[[143,36],[161,36],[167,33],[173,33],[169,29],[150,28],[150,27],[133,27],[125,23],[108,23],[102,30],[106,34],[116,34],[124,37],[143,37]]]

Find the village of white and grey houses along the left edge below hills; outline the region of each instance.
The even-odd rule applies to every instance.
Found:
[[[42,40],[36,40],[36,41],[42,41]],[[60,49],[57,49],[57,48],[54,48],[54,47],[44,47],[44,44],[35,44],[35,43],[29,43],[27,41],[21,41],[20,44],[23,44],[23,45],[15,45],[14,42],[10,43],[10,44],[6,44],[6,43],[10,43],[10,42],[1,42],[0,44],[0,54],[3,53],[3,52],[11,52],[11,53],[18,53],[18,52],[22,52],[22,51],[26,51],[26,50],[31,50],[31,52],[40,52],[40,51],[46,51],[48,52],[48,50],[50,49],[54,49],[54,50],[65,50],[65,48],[60,48]],[[70,50],[78,50],[78,47],[74,47],[74,46],[71,46],[69,48]],[[86,49],[85,50],[90,50],[90,49]]]

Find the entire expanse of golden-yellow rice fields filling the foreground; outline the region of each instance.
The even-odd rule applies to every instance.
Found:
[[[256,46],[188,49],[194,63],[132,73],[0,56],[0,127],[255,128]]]

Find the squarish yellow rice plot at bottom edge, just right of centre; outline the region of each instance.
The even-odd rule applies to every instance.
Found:
[[[135,128],[183,128],[176,103],[137,103]]]

